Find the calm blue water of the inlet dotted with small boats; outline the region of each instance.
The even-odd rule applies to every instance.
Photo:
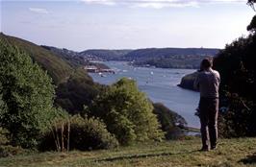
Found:
[[[145,92],[149,99],[153,102],[163,103],[169,109],[182,115],[189,126],[199,128],[199,119],[194,116],[199,93],[177,86],[183,76],[194,72],[194,70],[133,67],[123,61],[106,61],[104,63],[114,69],[116,73],[104,73],[103,77],[96,73],[90,73],[95,82],[113,84],[122,77],[134,79],[140,90]]]

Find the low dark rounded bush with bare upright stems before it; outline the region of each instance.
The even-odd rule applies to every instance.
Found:
[[[117,140],[106,130],[106,126],[99,119],[75,115],[70,119],[53,123],[51,129],[42,135],[38,149],[40,151],[69,149],[86,151],[111,149],[117,146]]]

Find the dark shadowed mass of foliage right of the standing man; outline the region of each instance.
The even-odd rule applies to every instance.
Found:
[[[256,36],[241,37],[221,51],[215,68],[221,76],[220,128],[224,136],[256,135]]]

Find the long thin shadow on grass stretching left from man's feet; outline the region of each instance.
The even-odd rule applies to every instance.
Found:
[[[122,155],[122,156],[115,156],[115,157],[107,157],[103,159],[97,159],[95,161],[115,161],[115,160],[123,160],[123,159],[133,159],[133,158],[143,158],[143,157],[153,157],[153,156],[167,156],[167,155],[181,155],[181,154],[192,154],[198,152],[198,150],[191,151],[191,152],[182,152],[182,153],[158,153],[158,154],[141,154],[141,155]]]

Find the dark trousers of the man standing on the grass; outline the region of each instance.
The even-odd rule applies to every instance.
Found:
[[[201,97],[199,102],[199,117],[203,149],[209,148],[209,137],[211,149],[215,149],[218,139],[218,98]]]

